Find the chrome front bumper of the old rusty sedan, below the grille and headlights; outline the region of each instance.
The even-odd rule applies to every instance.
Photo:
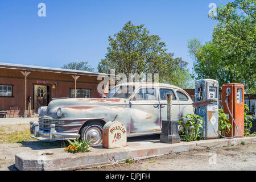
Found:
[[[57,132],[55,130],[55,125],[50,125],[50,131],[44,131],[39,129],[38,123],[30,122],[30,133],[34,134],[35,137],[43,137],[50,140],[75,140],[80,137],[80,134],[77,133],[64,133]]]

